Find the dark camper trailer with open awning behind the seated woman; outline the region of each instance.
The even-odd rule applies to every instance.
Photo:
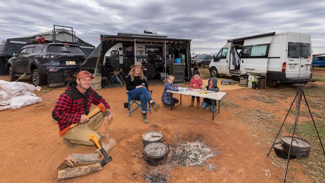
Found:
[[[100,39],[100,44],[81,64],[81,69],[99,68],[103,77],[109,77],[114,71],[127,75],[130,65],[140,61],[146,68],[144,75],[147,78],[163,80],[169,73],[175,75],[177,83],[184,83],[191,77],[190,39],[169,38],[147,30],[100,35]],[[175,63],[178,60],[179,63]]]

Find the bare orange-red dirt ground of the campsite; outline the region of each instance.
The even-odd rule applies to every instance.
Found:
[[[3,79],[3,78],[1,78]],[[159,101],[162,86],[151,86],[153,99]],[[51,110],[57,97],[64,88],[43,89],[36,92],[42,98],[41,103],[15,110],[0,111],[0,174],[1,182],[56,182],[56,167],[68,154],[92,153],[95,147],[68,149],[59,136],[58,127],[51,117]],[[222,90],[227,92],[225,99],[247,104],[238,96],[251,93],[251,89]],[[283,169],[276,168],[269,157],[268,148],[258,146],[253,141],[254,136],[248,133],[248,127],[238,121],[244,120],[233,108],[222,106],[220,113],[211,120],[209,110],[188,107],[189,96],[183,97],[182,106],[172,111],[161,107],[158,112],[148,114],[149,124],[162,127],[169,143],[177,143],[179,139],[200,140],[218,154],[208,159],[206,163],[214,163],[217,168],[207,170],[206,167],[187,166],[168,169],[165,166],[148,166],[142,159],[143,144],[141,134],[149,124],[141,121],[138,111],[128,117],[123,108],[126,100],[125,88],[108,88],[98,90],[111,105],[113,120],[110,124],[110,136],[117,145],[109,152],[113,161],[99,172],[77,177],[64,182],[143,182],[144,173],[153,169],[168,171],[168,182],[280,182]],[[179,96],[176,96],[179,97]],[[292,99],[288,99],[290,101]],[[249,106],[276,111],[278,105],[285,113],[287,101],[272,105],[261,105],[249,102]],[[255,106],[253,106],[255,104]],[[275,105],[275,106],[274,106]],[[281,120],[283,114],[280,114]],[[102,125],[101,130],[104,129]],[[273,152],[272,152],[273,153]],[[288,178],[296,181],[311,182],[301,172],[301,167],[295,162],[295,172]],[[167,169],[167,170],[166,170]],[[265,176],[269,170],[271,176]]]

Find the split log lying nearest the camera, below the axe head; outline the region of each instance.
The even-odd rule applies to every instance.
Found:
[[[58,171],[57,181],[64,180],[67,178],[73,178],[77,176],[84,176],[96,171],[101,170],[101,166],[99,162],[87,165],[87,166],[79,166],[74,168],[65,168]]]

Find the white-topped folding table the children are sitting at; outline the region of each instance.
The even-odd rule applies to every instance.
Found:
[[[186,91],[170,91],[170,90],[167,90],[167,92],[170,92],[170,93],[177,93],[177,94],[180,94],[180,102],[179,102],[179,106],[181,106],[181,95],[182,94],[185,94],[185,95],[191,95],[191,96],[199,96],[199,97],[202,97],[202,98],[209,98],[214,106],[214,100],[218,100],[218,112],[220,112],[220,100],[222,99],[222,97],[226,94],[225,92],[222,92],[222,91],[218,91],[218,92],[208,92],[206,94],[200,94],[201,89],[192,89],[192,90],[186,90]],[[171,107],[171,110],[172,108],[175,108],[176,106],[178,105],[175,105],[175,106],[172,106]],[[214,110],[212,109],[212,120],[214,119]]]

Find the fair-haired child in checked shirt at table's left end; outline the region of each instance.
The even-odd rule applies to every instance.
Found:
[[[168,105],[168,106],[175,106],[175,103],[178,103],[178,99],[172,97],[172,93],[167,92],[167,90],[170,91],[182,91],[183,89],[178,87],[173,84],[172,82],[174,81],[174,76],[173,75],[168,75],[166,80],[167,82],[164,85],[162,95],[161,95],[161,101],[163,105]]]

